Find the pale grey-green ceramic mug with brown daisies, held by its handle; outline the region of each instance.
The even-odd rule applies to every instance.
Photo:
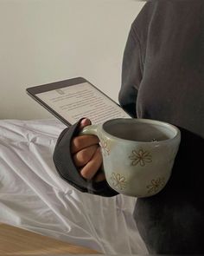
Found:
[[[80,135],[99,137],[106,181],[118,193],[135,197],[163,189],[181,141],[178,128],[150,119],[112,119],[86,126]]]

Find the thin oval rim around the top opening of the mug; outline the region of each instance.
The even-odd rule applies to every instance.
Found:
[[[140,122],[140,123],[150,123],[150,124],[157,124],[157,125],[162,125],[163,127],[166,127],[166,128],[169,128],[170,130],[174,130],[175,131],[175,135],[173,138],[169,138],[169,139],[166,139],[166,140],[163,140],[163,141],[131,141],[131,140],[127,140],[127,139],[122,139],[122,138],[119,138],[117,136],[114,136],[114,135],[111,135],[109,134],[108,132],[105,131],[105,128],[104,128],[104,125],[106,123],[112,123],[112,122],[115,122],[115,121],[133,121],[133,122]],[[143,144],[156,144],[156,142],[159,144],[163,144],[163,143],[166,143],[168,141],[175,141],[177,138],[181,138],[181,131],[179,128],[177,128],[175,125],[173,124],[170,124],[169,122],[166,122],[166,121],[158,121],[158,120],[154,120],[154,119],[148,119],[148,118],[114,118],[114,119],[111,119],[111,120],[108,120],[108,121],[105,121],[104,123],[102,123],[102,129],[103,129],[103,132],[105,133],[105,135],[109,136],[109,137],[112,137],[114,139],[117,139],[119,141],[129,141],[132,142],[132,143],[135,143],[135,142],[139,142],[139,143],[143,143]]]

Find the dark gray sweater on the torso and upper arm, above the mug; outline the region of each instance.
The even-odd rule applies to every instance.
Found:
[[[121,106],[204,138],[204,1],[146,3],[124,50]]]

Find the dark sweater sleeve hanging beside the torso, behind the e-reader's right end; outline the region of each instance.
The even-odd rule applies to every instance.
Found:
[[[121,107],[132,117],[137,117],[137,90],[142,80],[142,74],[143,64],[140,42],[132,25],[124,49],[122,84],[118,95]]]

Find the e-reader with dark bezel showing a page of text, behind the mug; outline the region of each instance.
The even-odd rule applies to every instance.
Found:
[[[107,95],[93,86],[85,79],[72,80],[71,85],[69,80],[57,86],[54,82],[54,87],[47,85],[47,89],[42,89],[38,86],[35,89],[35,100],[39,99],[44,107],[50,112],[54,111],[54,115],[63,122],[73,124],[79,121],[81,117],[87,117],[92,121],[92,124],[98,124],[113,118],[128,118],[122,108],[116,102],[113,102]],[[62,86],[61,86],[62,84]],[[51,85],[51,84],[50,84]],[[30,94],[29,89],[27,91]],[[32,91],[32,90],[31,90]]]

